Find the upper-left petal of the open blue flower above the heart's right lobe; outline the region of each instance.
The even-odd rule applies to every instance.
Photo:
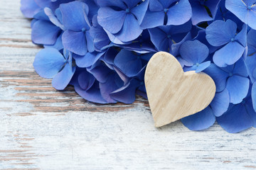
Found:
[[[237,30],[237,25],[228,20],[224,21],[214,21],[206,28],[206,39],[213,46],[225,45],[235,38],[235,33]]]

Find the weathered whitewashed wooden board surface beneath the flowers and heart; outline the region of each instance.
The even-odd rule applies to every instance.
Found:
[[[256,130],[154,128],[146,101],[95,105],[34,72],[18,0],[0,0],[0,169],[256,169]]]

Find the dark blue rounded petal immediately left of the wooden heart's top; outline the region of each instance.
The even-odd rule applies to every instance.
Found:
[[[142,62],[137,55],[128,50],[121,50],[114,58],[117,66],[127,77],[134,77],[142,69]]]

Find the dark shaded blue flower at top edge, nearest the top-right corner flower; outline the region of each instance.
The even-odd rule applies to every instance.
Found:
[[[189,0],[192,7],[192,18],[191,21],[193,26],[204,21],[212,21],[215,18],[215,14],[218,10],[218,4],[220,0]],[[210,10],[208,13],[206,6]],[[209,15],[210,14],[210,15]]]

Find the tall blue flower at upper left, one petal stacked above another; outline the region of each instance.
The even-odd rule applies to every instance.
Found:
[[[89,13],[87,4],[80,1],[61,4],[60,11],[63,16],[63,26],[66,29],[62,35],[65,49],[77,55],[86,55],[88,51],[93,52],[95,47],[89,32],[91,26],[87,18]]]

